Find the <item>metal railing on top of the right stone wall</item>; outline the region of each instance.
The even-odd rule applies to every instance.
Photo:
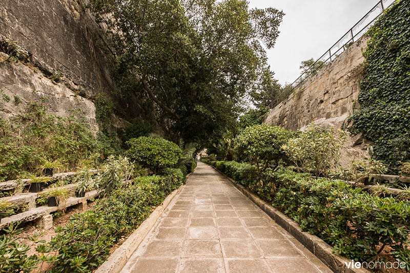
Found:
[[[310,76],[315,75],[320,69],[325,67],[329,61],[335,59],[348,47],[350,47],[355,41],[357,41],[367,30],[376,22],[376,19],[383,13],[383,11],[390,7],[395,0],[380,0],[369,12],[364,15],[359,22],[357,22],[350,30],[348,30],[332,47],[320,56],[312,66],[306,69],[294,82],[291,83],[290,94],[298,86],[301,85]],[[362,27],[364,25],[364,27]],[[288,95],[289,97],[289,95]],[[286,99],[286,98],[285,98]],[[283,101],[283,100],[281,100]],[[269,105],[270,109],[273,109],[281,101],[279,99],[272,101]]]

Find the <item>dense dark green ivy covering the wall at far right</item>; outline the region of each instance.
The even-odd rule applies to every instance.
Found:
[[[392,173],[410,160],[410,1],[398,1],[368,30],[360,110],[350,130],[375,142],[372,157]]]

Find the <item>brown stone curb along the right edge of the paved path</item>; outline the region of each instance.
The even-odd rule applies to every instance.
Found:
[[[213,167],[213,166],[211,166]],[[290,235],[296,238],[304,247],[308,248],[311,253],[313,253],[319,260],[321,260],[325,265],[337,273],[370,273],[370,271],[364,268],[347,268],[345,263],[350,263],[349,260],[339,254],[333,253],[332,247],[324,242],[322,239],[315,235],[311,235],[307,232],[303,232],[299,224],[293,221],[288,216],[279,212],[269,203],[263,201],[255,194],[248,191],[242,185],[236,183],[232,178],[228,177],[226,174],[220,172],[215,167],[213,167],[218,173],[227,178],[228,181],[233,183],[235,187],[252,200],[258,207],[262,209],[266,214],[268,214],[275,222],[286,230]]]

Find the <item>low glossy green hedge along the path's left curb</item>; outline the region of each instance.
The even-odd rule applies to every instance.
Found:
[[[133,185],[99,199],[90,211],[76,214],[69,224],[58,226],[43,252],[57,252],[51,258],[54,272],[91,272],[110,255],[111,247],[132,233],[185,177],[179,169],[166,169],[166,176],[144,176]],[[42,252],[42,251],[40,251]],[[39,256],[41,260],[42,257]]]

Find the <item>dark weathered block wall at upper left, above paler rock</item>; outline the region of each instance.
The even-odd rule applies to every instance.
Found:
[[[95,44],[99,26],[82,0],[0,2],[0,35],[28,51],[44,70],[61,71],[81,96],[109,88],[111,80]],[[100,39],[104,43],[104,39]]]

